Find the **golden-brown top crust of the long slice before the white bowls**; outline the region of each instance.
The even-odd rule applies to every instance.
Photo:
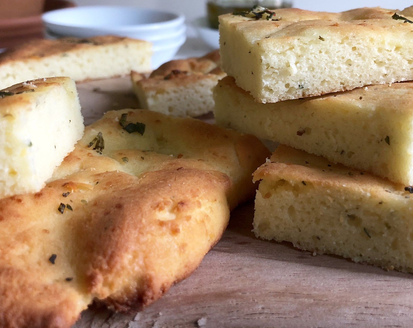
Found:
[[[95,36],[92,38],[61,38],[58,40],[32,40],[0,54],[0,65],[10,61],[43,58],[64,52],[90,49],[97,45],[112,45],[124,42],[145,44],[146,41],[124,38],[114,35]]]

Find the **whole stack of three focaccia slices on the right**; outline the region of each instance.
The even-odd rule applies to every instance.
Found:
[[[220,17],[216,121],[282,144],[254,173],[257,236],[413,273],[412,16]]]

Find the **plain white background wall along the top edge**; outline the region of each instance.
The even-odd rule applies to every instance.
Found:
[[[74,0],[78,5],[134,5],[146,8],[163,8],[168,11],[182,12],[188,21],[204,16],[207,0]],[[294,7],[314,11],[341,12],[359,7],[383,7],[404,9],[413,5],[413,0],[292,0]]]

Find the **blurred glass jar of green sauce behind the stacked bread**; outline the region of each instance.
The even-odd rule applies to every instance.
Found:
[[[291,8],[289,0],[209,0],[207,2],[208,22],[211,28],[218,28],[218,16],[230,12],[245,12],[251,10],[254,5],[270,10]]]

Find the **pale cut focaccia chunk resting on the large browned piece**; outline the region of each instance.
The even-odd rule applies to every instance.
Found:
[[[0,198],[39,191],[83,130],[70,78],[33,80],[0,91]]]

